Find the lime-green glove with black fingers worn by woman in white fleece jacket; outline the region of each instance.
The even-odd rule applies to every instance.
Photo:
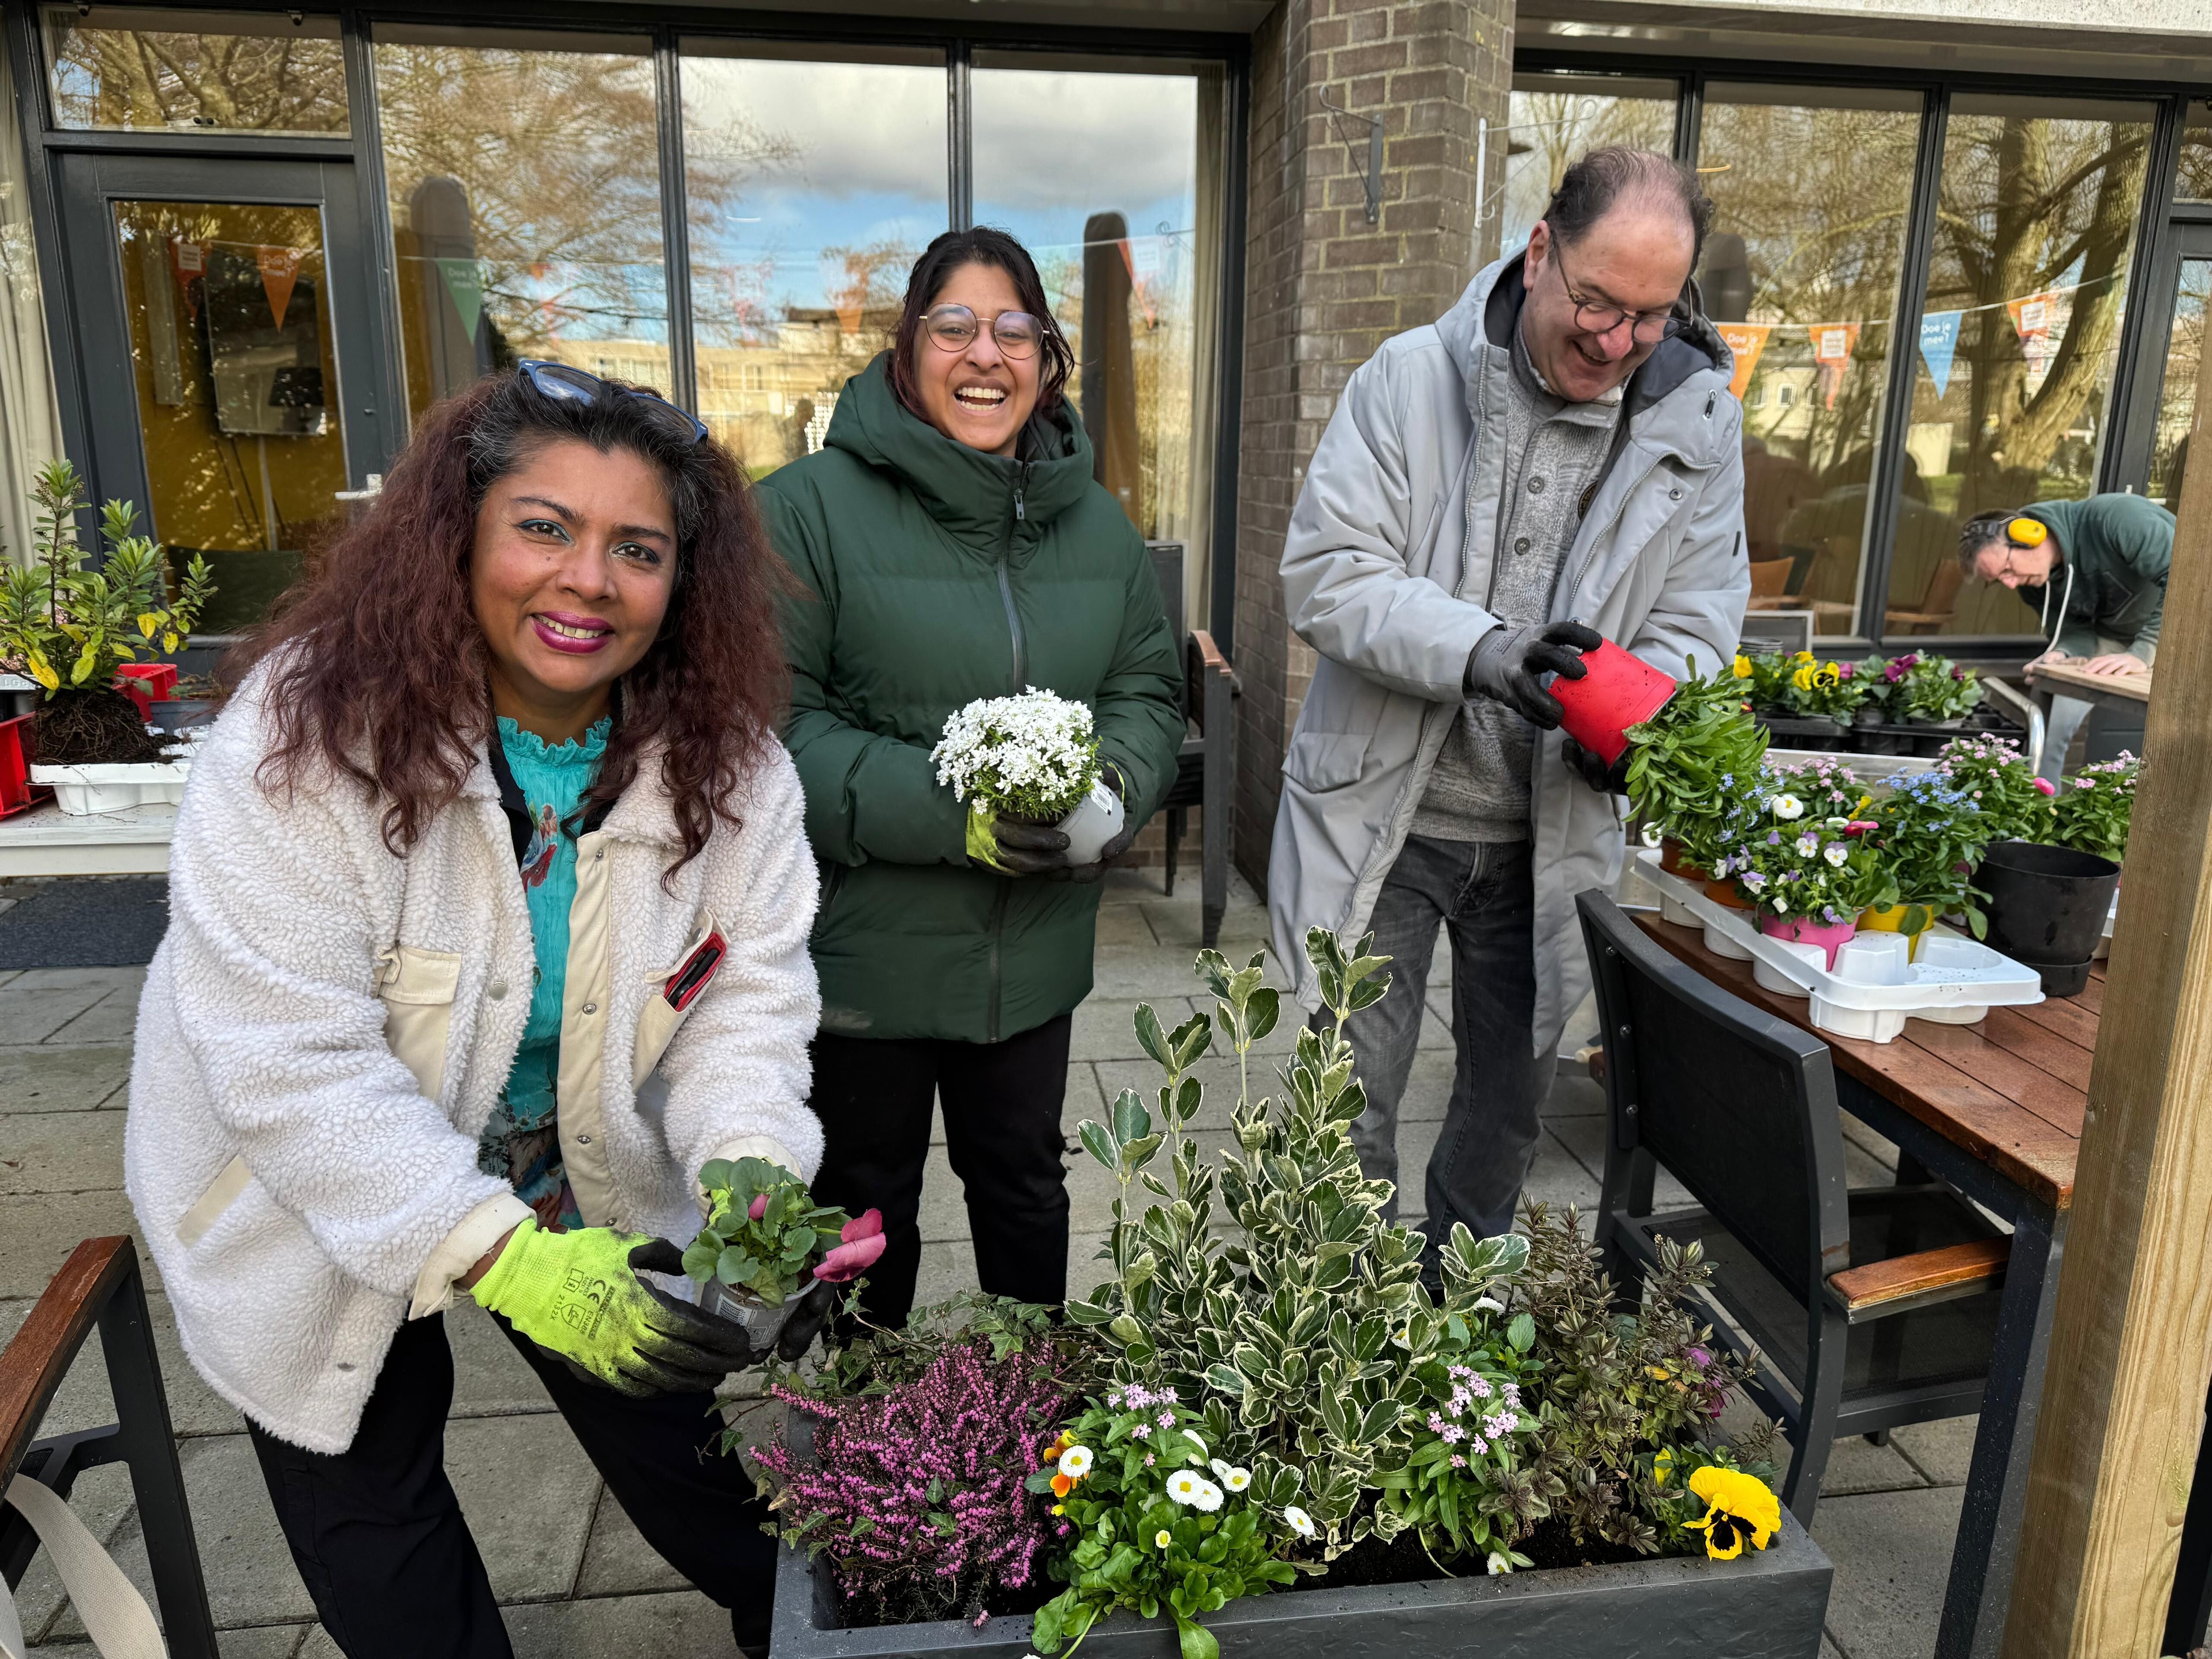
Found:
[[[469,1294],[617,1394],[703,1394],[754,1363],[741,1325],[677,1301],[639,1270],[681,1274],[684,1252],[641,1232],[546,1232],[531,1219]]]

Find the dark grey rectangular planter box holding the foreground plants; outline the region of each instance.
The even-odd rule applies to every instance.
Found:
[[[1206,1628],[1221,1659],[1816,1659],[1832,1577],[1827,1555],[1783,1511],[1774,1542],[1736,1562],[1670,1555],[1345,1590],[1323,1579],[1232,1601]],[[1029,1615],[982,1628],[951,1619],[845,1630],[830,1566],[779,1551],[772,1659],[1022,1659],[1029,1632]],[[1082,1652],[1175,1659],[1175,1624],[1117,1613]]]

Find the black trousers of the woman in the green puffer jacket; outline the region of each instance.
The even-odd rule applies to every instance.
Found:
[[[825,1141],[814,1194],[852,1214],[883,1210],[889,1243],[860,1292],[878,1325],[905,1325],[914,1307],[922,1263],[916,1219],[938,1097],[984,1292],[1024,1303],[1068,1298],[1060,1104],[1073,1024],[1075,1015],[1064,1013],[1004,1042],[814,1037],[814,1113]]]

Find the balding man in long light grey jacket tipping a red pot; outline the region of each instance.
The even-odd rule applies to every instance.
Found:
[[[1453,1221],[1506,1232],[1553,1051],[1588,989],[1575,894],[1621,869],[1619,768],[1557,734],[1551,675],[1613,639],[1674,677],[1730,661],[1750,595],[1741,405],[1690,272],[1694,175],[1606,148],[1436,325],[1352,376],[1283,546],[1321,653],[1283,761],[1267,902],[1298,1000],[1305,929],[1374,929],[1391,993],[1352,1020],[1369,1179],[1398,1179],[1436,929],[1458,1071],[1427,1175],[1431,1270]]]

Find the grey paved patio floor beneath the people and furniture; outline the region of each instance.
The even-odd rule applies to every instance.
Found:
[[[0,885],[0,907],[11,902]],[[1265,911],[1237,885],[1223,949],[1261,949]],[[1115,872],[1099,914],[1097,989],[1075,1015],[1066,1130],[1102,1115],[1124,1086],[1146,1084],[1150,1064],[1130,1035],[1130,1013],[1150,1000],[1175,1024],[1194,1006],[1190,962],[1199,947],[1197,883],[1164,898],[1159,872]],[[1422,1051],[1405,1102],[1400,1155],[1427,1161],[1451,1086],[1451,1044],[1438,1013],[1449,1006],[1449,953],[1429,987]],[[131,1026],[142,969],[33,969],[0,973],[0,1343],[13,1336],[46,1279],[93,1234],[133,1230],[122,1194],[122,1124]],[[1577,1033],[1568,1033],[1575,1037]],[[1287,1048],[1290,1026],[1270,1040]],[[1199,1139],[1225,1139],[1234,1066],[1201,1066],[1210,1102]],[[1221,1084],[1228,1084],[1225,1088]],[[1272,1077],[1270,1077],[1272,1082]],[[1601,1159],[1599,1091],[1562,1075],[1544,1115],[1528,1192],[1593,1203]],[[1891,1148],[1856,1124],[1854,1179],[1874,1179]],[[1110,1179],[1071,1157],[1075,1201],[1071,1287],[1086,1290],[1108,1219]],[[1418,1217],[1409,1217],[1418,1221]],[[973,1283],[967,1212],[945,1164],[942,1135],[922,1201],[922,1298]],[[226,1659],[325,1659],[336,1646],[292,1568],[270,1513],[239,1413],[184,1363],[159,1283],[153,1287],[161,1360],[179,1453],[201,1540],[201,1562]],[[484,1553],[491,1584],[522,1659],[604,1659],[659,1652],[734,1655],[728,1619],[659,1562],[630,1526],[535,1376],[471,1303],[447,1316],[458,1391],[447,1469]],[[46,1431],[111,1420],[97,1338],[77,1360]],[[1836,1444],[1814,1537],[1836,1562],[1823,1659],[1920,1659],[1933,1652],[1973,1420],[1898,1429],[1889,1447]],[[119,1467],[77,1482],[75,1509],[148,1588],[144,1546]],[[18,1595],[33,1652],[86,1659],[84,1628],[40,1557]]]

